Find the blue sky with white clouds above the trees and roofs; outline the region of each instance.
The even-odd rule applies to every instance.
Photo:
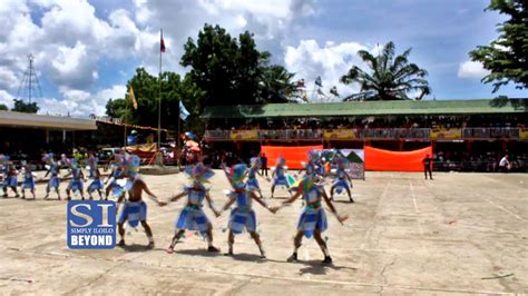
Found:
[[[110,98],[123,98],[135,69],[157,75],[159,30],[166,52],[163,70],[185,73],[183,46],[205,23],[233,37],[248,30],[272,61],[305,79],[312,91],[321,76],[323,92],[359,91],[339,82],[358,50],[377,53],[393,41],[397,53],[412,48],[410,61],[424,68],[432,93],[426,99],[527,97],[514,86],[492,93],[480,79],[482,66],[468,52],[497,38],[506,19],[486,11],[489,0],[0,0],[0,103],[12,107],[27,56],[42,97],[40,114],[105,115]],[[20,92],[23,95],[23,91]],[[309,93],[310,98],[312,95]],[[19,98],[27,99],[19,95]]]

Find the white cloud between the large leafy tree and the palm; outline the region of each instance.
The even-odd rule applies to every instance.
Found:
[[[330,88],[334,86],[338,87],[341,98],[344,98],[359,90],[359,86],[345,86],[339,80],[352,65],[362,65],[356,55],[361,49],[366,49],[366,47],[359,42],[326,42],[320,46],[315,40],[301,40],[297,47],[286,48],[284,63],[286,69],[296,73],[296,79],[305,79],[310,99],[315,99],[312,92],[317,76],[321,76],[322,90],[329,99],[336,99],[329,93]]]

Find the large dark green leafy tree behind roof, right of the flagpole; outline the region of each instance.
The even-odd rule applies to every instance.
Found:
[[[252,33],[245,31],[236,39],[211,24],[199,31],[196,42],[187,40],[182,57],[193,81],[205,91],[202,106],[286,102],[293,75],[268,63],[270,53],[256,49]]]

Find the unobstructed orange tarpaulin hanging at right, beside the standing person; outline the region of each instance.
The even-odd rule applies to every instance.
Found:
[[[432,147],[413,151],[390,151],[370,146],[364,147],[365,170],[422,171],[426,155],[432,157]]]

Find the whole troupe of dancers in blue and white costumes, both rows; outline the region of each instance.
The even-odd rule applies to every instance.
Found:
[[[80,166],[75,159],[68,159],[65,156],[61,156],[59,161],[53,160],[51,154],[47,154],[43,157],[43,160],[47,161],[48,171],[46,174],[50,175],[50,179],[47,186],[47,195],[51,189],[55,189],[58,198],[60,199],[59,193],[59,167],[66,165],[69,168],[68,175],[71,176],[71,180],[66,189],[67,199],[70,199],[70,194],[72,191],[79,191],[81,198],[84,199],[84,180],[85,176]],[[6,176],[4,179],[4,193],[6,186],[13,188],[17,193],[17,185],[12,181],[13,176],[16,177],[16,171],[13,172],[13,167],[9,161],[6,161],[3,157],[2,161],[4,162]],[[138,174],[139,168],[139,158],[134,155],[118,155],[116,156],[116,161],[113,166],[113,171],[110,178],[108,178],[108,186],[105,189],[105,184],[100,179],[100,171],[97,167],[97,159],[91,158],[88,160],[88,167],[90,170],[90,178],[92,182],[88,186],[88,194],[91,198],[91,193],[97,190],[99,193],[99,198],[102,199],[102,190],[105,189],[105,199],[108,198],[109,193],[113,193],[117,197],[118,208],[121,203],[124,203],[123,209],[119,214],[117,221],[119,241],[118,246],[125,246],[125,223],[128,223],[131,227],[137,227],[139,224],[145,229],[145,233],[148,238],[148,248],[154,247],[153,231],[147,224],[147,204],[143,200],[143,193],[146,193],[147,196],[155,201],[158,206],[166,206],[168,203],[177,201],[182,198],[186,198],[186,205],[180,210],[176,221],[175,221],[175,233],[170,241],[170,245],[166,249],[168,254],[174,253],[176,244],[184,237],[185,231],[197,231],[202,237],[207,241],[208,251],[219,251],[217,247],[213,244],[213,225],[208,219],[207,215],[203,210],[204,201],[207,201],[208,207],[215,214],[216,217],[219,217],[224,211],[231,208],[231,214],[228,218],[228,250],[226,255],[234,255],[234,243],[235,236],[247,231],[251,237],[255,240],[255,244],[258,247],[258,251],[262,258],[266,257],[263,243],[261,240],[260,234],[257,233],[257,219],[255,210],[253,209],[253,201],[257,203],[271,214],[276,214],[278,210],[285,206],[294,203],[297,198],[302,197],[304,208],[299,218],[297,231],[294,237],[293,253],[287,258],[287,262],[297,260],[297,249],[301,247],[303,237],[311,238],[314,237],[319,244],[323,255],[323,264],[331,264],[332,258],[330,256],[325,240],[322,238],[322,233],[327,229],[327,220],[325,210],[323,209],[322,203],[327,205],[329,209],[333,215],[335,215],[339,223],[343,223],[348,219],[348,216],[339,215],[336,208],[332,204],[332,197],[335,189],[345,189],[350,195],[351,181],[350,176],[345,170],[345,158],[335,157],[334,162],[336,165],[335,170],[335,181],[331,188],[331,197],[329,197],[324,189],[324,178],[322,177],[322,170],[317,167],[317,155],[312,151],[309,155],[309,161],[304,164],[302,175],[295,175],[295,180],[289,180],[286,176],[286,160],[282,157],[277,159],[277,164],[272,174],[272,197],[276,186],[284,186],[287,189],[289,198],[281,203],[278,206],[270,205],[270,200],[265,198],[262,194],[258,180],[256,178],[260,175],[260,159],[252,158],[251,165],[246,164],[236,164],[231,167],[223,167],[226,178],[229,181],[231,188],[226,190],[227,200],[225,205],[217,208],[213,199],[211,198],[209,191],[211,187],[208,186],[209,179],[215,175],[215,172],[207,166],[198,162],[193,166],[185,167],[184,172],[188,177],[188,184],[186,184],[182,191],[170,197],[168,200],[162,200],[158,198],[150,189],[147,184],[143,180]],[[13,175],[14,174],[14,175]],[[25,193],[26,175],[31,175],[31,190],[35,198],[35,174],[31,172],[27,165],[23,166],[25,180],[22,182],[22,195]],[[28,177],[29,178],[29,177]],[[12,186],[11,186],[12,185]],[[128,198],[125,198],[125,195],[128,194]]]

